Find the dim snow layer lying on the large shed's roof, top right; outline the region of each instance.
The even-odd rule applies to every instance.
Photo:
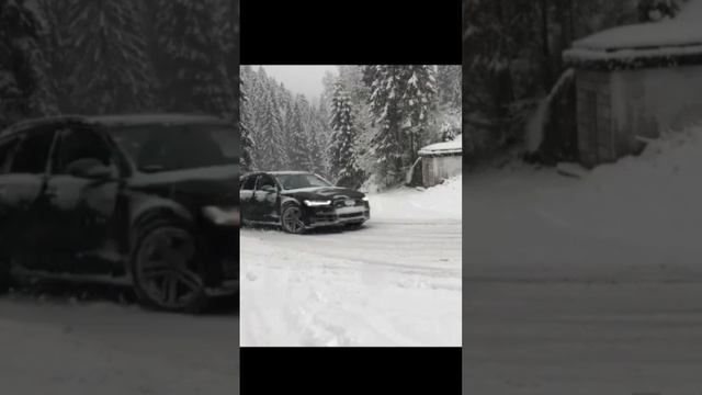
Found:
[[[573,43],[570,59],[609,60],[702,54],[702,0],[690,0],[672,20],[609,29]]]

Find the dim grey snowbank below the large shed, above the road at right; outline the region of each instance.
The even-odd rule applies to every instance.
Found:
[[[467,276],[702,275],[702,127],[652,142],[582,179],[526,168],[466,182]]]

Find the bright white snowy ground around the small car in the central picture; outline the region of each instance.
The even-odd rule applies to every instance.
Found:
[[[358,230],[241,229],[241,346],[460,346],[461,178]]]

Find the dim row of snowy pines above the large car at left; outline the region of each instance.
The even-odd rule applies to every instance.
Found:
[[[0,0],[0,126],[57,113],[238,120],[237,0]]]

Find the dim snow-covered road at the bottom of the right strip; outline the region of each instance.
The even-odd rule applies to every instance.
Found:
[[[702,393],[702,283],[466,282],[463,394]]]

